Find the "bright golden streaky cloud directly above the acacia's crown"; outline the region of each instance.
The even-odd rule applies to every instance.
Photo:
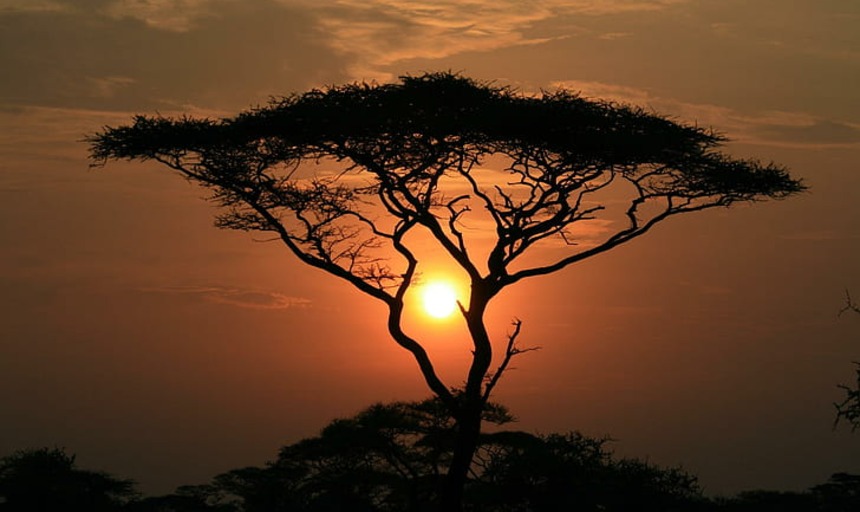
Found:
[[[442,59],[566,37],[530,35],[535,25],[561,16],[654,11],[686,1],[338,0],[321,2],[318,9],[331,46],[354,61],[350,75],[388,80],[385,68],[404,60]]]

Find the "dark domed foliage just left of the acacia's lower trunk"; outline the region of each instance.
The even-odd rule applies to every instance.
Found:
[[[512,418],[488,404],[484,420]],[[439,400],[373,405],[318,437],[281,449],[265,468],[217,476],[213,495],[245,511],[423,510],[437,503],[453,451],[454,422]]]

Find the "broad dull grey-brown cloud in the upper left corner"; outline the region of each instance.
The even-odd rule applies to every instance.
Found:
[[[158,16],[131,8],[138,4]],[[301,6],[274,0],[63,5],[0,11],[0,68],[11,78],[0,80],[0,104],[235,110],[344,77],[343,58]],[[159,21],[175,13],[184,17]]]

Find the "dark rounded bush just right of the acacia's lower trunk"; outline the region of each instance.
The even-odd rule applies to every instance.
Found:
[[[472,484],[486,505],[480,510],[667,511],[704,499],[695,476],[638,459],[615,459],[605,438],[578,432],[503,434],[505,442],[483,447],[494,457],[481,465],[484,472]]]

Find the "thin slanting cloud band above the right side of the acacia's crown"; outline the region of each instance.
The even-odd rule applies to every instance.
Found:
[[[824,119],[803,112],[742,113],[708,103],[691,103],[651,94],[645,89],[580,80],[556,81],[553,87],[653,110],[697,125],[731,133],[732,140],[783,147],[837,148],[860,146],[860,125]]]

